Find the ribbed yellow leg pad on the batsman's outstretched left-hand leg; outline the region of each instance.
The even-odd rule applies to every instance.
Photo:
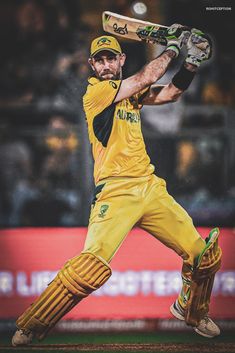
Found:
[[[38,339],[78,302],[100,288],[111,276],[102,258],[88,252],[67,261],[40,297],[18,318],[17,327],[31,330]]]

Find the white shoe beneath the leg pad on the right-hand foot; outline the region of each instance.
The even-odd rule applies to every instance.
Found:
[[[178,300],[176,300],[170,307],[170,311],[172,315],[174,315],[177,319],[185,321],[184,319],[184,309],[179,305]],[[219,327],[212,321],[209,316],[205,316],[197,326],[193,327],[194,331],[199,335],[213,338],[220,334]]]

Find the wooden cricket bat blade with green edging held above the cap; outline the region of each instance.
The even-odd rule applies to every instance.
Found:
[[[111,34],[147,43],[166,45],[167,26],[104,11],[102,14],[103,29]]]

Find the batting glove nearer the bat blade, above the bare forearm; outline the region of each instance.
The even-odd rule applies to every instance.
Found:
[[[187,43],[190,34],[191,32],[189,27],[174,23],[166,31],[166,50],[173,50],[176,53],[177,57],[180,53],[180,49],[182,48],[182,46]]]

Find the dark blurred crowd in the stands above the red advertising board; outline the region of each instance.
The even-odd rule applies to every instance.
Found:
[[[162,13],[156,22],[181,21],[175,7],[185,1],[169,6],[173,2],[166,0],[165,7],[159,0],[145,2],[146,16]],[[83,136],[82,95],[90,75],[89,45],[102,34],[102,11],[138,17],[133,3],[0,4],[0,226],[87,224],[84,169],[92,173],[92,164]],[[216,28],[214,22],[210,26]],[[234,225],[234,49],[225,48],[216,31],[212,37],[210,64],[202,66],[180,102],[143,108],[143,129],[157,173],[196,222],[209,225],[216,218]],[[153,56],[142,43],[121,45],[128,55],[124,75]],[[161,82],[169,82],[176,69],[173,65]]]

